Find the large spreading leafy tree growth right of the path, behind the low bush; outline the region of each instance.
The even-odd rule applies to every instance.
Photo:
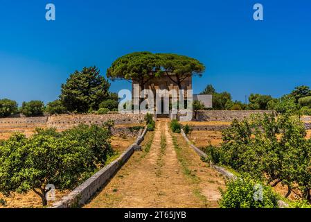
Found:
[[[289,114],[277,119],[258,115],[233,121],[222,132],[221,146],[208,146],[205,152],[214,163],[249,173],[272,187],[282,183],[288,189],[285,197],[299,190],[311,203],[311,140],[305,135],[303,123]]]

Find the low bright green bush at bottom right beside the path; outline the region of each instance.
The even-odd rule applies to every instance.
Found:
[[[271,187],[250,178],[231,180],[222,192],[221,208],[277,208],[278,197]]]

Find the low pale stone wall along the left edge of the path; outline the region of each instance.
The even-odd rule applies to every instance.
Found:
[[[132,144],[127,150],[118,157],[117,160],[110,163],[103,169],[100,169],[94,176],[91,176],[88,180],[82,183],[79,187],[71,191],[68,196],[65,196],[59,202],[55,203],[52,208],[72,208],[79,207],[87,203],[87,201],[101,189],[107,182],[115,175],[120,167],[131,157],[137,146],[143,141],[145,134],[147,133],[147,127],[144,130],[140,130],[139,137],[136,142]]]

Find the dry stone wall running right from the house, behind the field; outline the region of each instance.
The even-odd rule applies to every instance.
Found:
[[[233,121],[233,119],[249,118],[251,114],[275,114],[274,111],[269,110],[204,110],[197,112],[197,121]]]

